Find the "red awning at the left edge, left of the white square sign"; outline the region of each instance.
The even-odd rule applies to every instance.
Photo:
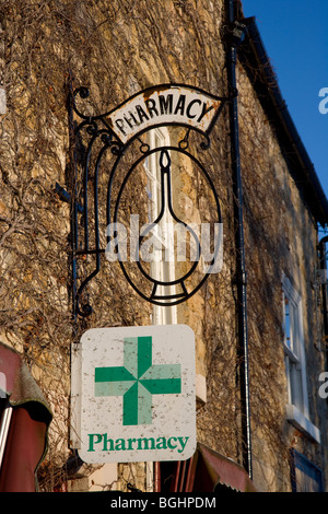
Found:
[[[36,471],[47,452],[52,414],[21,355],[2,342],[0,396],[2,443],[5,440],[0,492],[35,492]],[[7,421],[8,432],[4,430]]]

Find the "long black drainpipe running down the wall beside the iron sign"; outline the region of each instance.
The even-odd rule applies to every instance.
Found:
[[[247,334],[247,294],[246,266],[243,222],[243,188],[239,156],[238,103],[236,84],[237,46],[242,42],[243,26],[236,22],[235,1],[227,0],[227,82],[232,101],[230,103],[231,154],[235,196],[236,220],[236,265],[237,265],[237,357],[239,362],[239,387],[242,401],[243,465],[253,478],[249,373],[248,373],[248,334]]]

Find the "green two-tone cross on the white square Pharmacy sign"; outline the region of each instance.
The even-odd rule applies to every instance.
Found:
[[[95,369],[95,396],[122,396],[122,424],[152,423],[152,395],[181,393],[180,364],[152,364],[152,338],[124,339],[124,366]]]

